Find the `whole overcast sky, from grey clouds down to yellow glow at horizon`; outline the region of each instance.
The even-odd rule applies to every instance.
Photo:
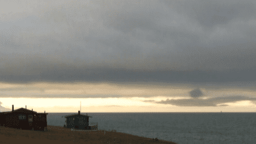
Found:
[[[0,108],[254,111],[255,1],[23,0],[0,10]]]

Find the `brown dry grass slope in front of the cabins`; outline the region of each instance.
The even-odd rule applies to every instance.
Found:
[[[173,143],[119,133],[115,130],[105,131],[104,134],[104,130],[72,131],[57,126],[48,126],[47,129],[47,132],[39,132],[0,127],[0,143]]]

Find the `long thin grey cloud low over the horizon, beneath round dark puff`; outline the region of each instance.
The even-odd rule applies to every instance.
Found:
[[[155,102],[158,104],[171,104],[177,106],[196,106],[196,107],[206,107],[206,106],[225,106],[223,103],[235,103],[237,101],[256,101],[254,97],[244,97],[244,96],[223,96],[214,98],[190,98],[190,99],[179,99],[179,100],[169,100]],[[218,105],[220,104],[220,105]]]

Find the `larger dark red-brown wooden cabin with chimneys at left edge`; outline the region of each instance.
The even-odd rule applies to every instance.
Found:
[[[27,130],[44,130],[47,127],[47,113],[37,113],[36,111],[19,108],[12,111],[0,113],[0,125]]]

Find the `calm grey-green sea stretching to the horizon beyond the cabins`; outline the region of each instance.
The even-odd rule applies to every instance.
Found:
[[[63,126],[73,113],[49,113],[47,124]],[[82,113],[86,114],[86,113]],[[98,129],[176,143],[256,143],[256,113],[88,113]]]

